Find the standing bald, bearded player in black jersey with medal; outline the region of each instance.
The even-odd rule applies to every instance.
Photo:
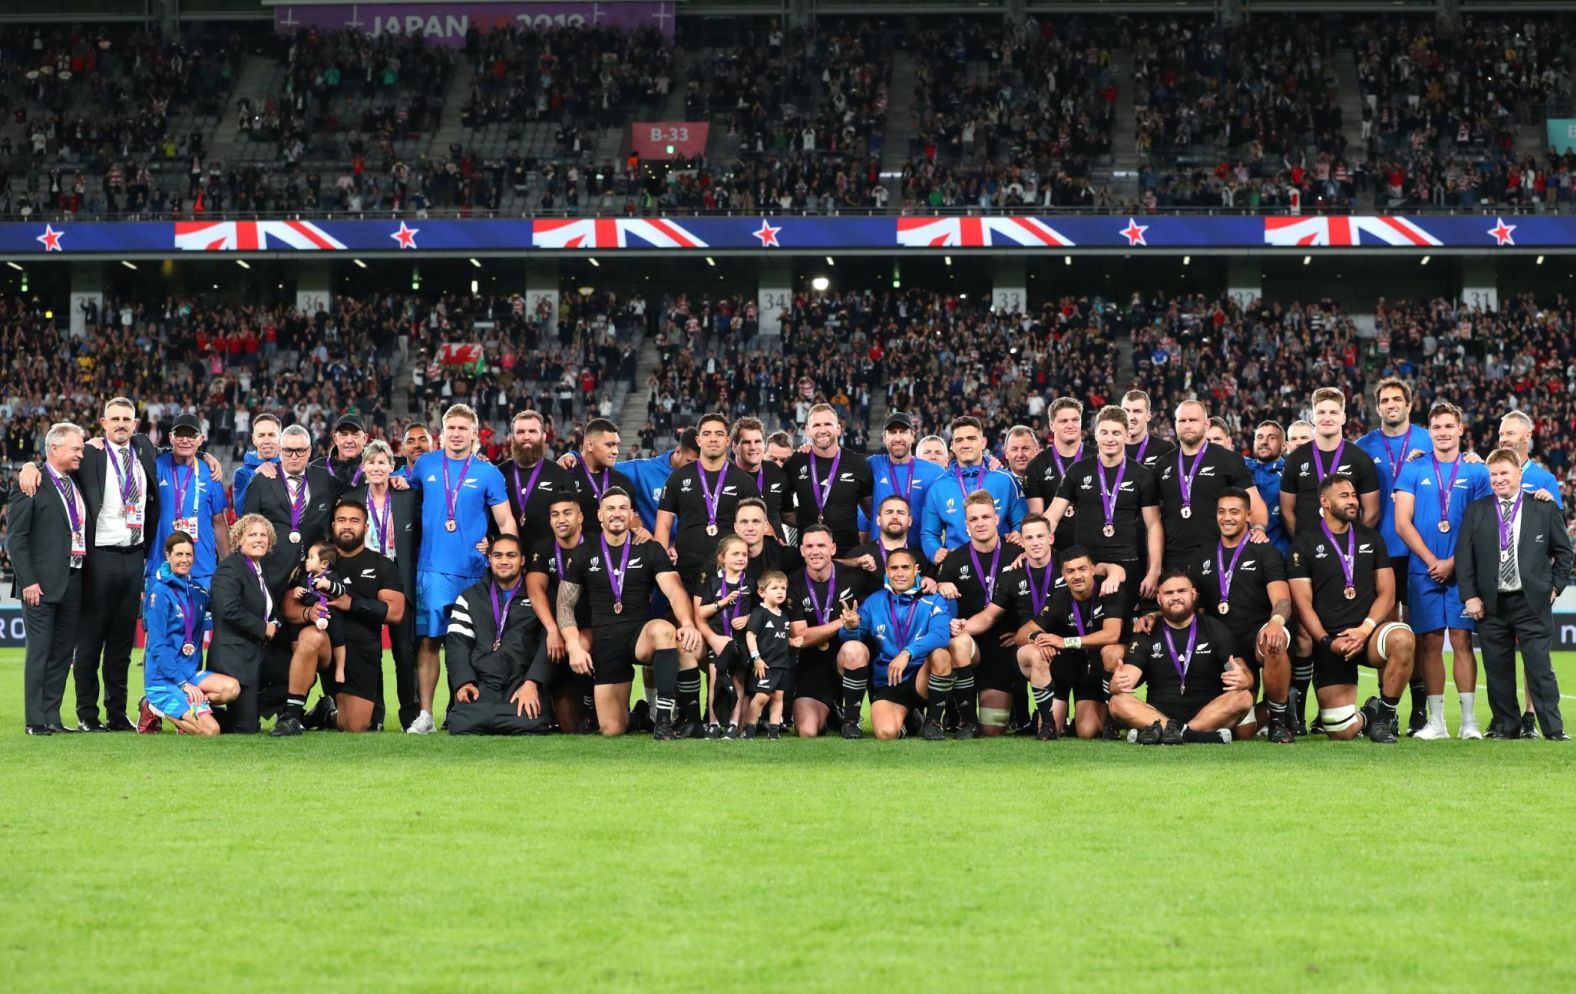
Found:
[[[1168,569],[1187,569],[1199,548],[1214,545],[1215,498],[1231,488],[1245,490],[1253,501],[1250,542],[1264,542],[1264,501],[1253,485],[1242,457],[1204,441],[1209,411],[1198,400],[1184,400],[1176,410],[1177,447],[1160,460],[1157,482],[1165,507]]]

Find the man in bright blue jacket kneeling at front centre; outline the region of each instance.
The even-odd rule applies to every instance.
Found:
[[[920,594],[919,561],[906,548],[887,553],[887,583],[865,602],[843,602],[838,636],[853,646],[843,681],[870,674],[870,728],[876,739],[897,739],[909,710],[924,710],[920,734],[946,739],[941,709],[952,692],[952,602]],[[872,649],[875,658],[872,660]],[[875,663],[875,666],[872,666]]]

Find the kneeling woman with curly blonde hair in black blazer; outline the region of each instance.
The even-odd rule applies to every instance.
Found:
[[[243,515],[230,526],[235,551],[213,573],[213,646],[208,668],[235,677],[241,693],[230,704],[221,728],[227,733],[255,733],[257,688],[262,682],[268,643],[279,630],[273,594],[263,581],[263,558],[273,551],[274,526],[260,514]]]

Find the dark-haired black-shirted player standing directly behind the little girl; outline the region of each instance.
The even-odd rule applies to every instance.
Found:
[[[652,532],[657,545],[675,550],[673,562],[686,589],[701,572],[716,567],[717,542],[733,531],[739,503],[760,496],[755,477],[728,462],[727,417],[701,414],[695,438],[700,458],[668,477]]]

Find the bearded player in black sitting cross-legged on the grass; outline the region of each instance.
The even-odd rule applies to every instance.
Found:
[[[1160,619],[1127,644],[1111,676],[1111,717],[1138,729],[1139,745],[1231,742],[1253,707],[1253,674],[1231,646],[1231,630],[1195,611],[1185,570],[1160,577]],[[1133,696],[1149,684],[1147,701]]]

